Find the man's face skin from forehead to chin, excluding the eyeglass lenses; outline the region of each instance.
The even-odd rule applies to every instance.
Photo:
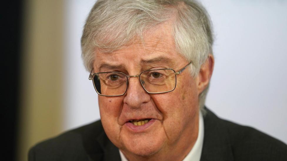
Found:
[[[146,34],[144,44],[139,41],[110,54],[97,51],[94,71],[139,75],[161,68],[178,71],[188,63],[176,52],[171,28],[165,24]],[[198,87],[188,69],[177,75],[176,88],[169,93],[148,94],[139,77],[131,77],[124,95],[99,96],[99,107],[107,136],[126,156],[191,150],[197,137]],[[130,123],[144,119],[151,120],[138,126]]]

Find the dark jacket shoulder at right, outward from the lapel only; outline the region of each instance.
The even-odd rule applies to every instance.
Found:
[[[234,158],[246,160],[287,160],[287,145],[248,126],[222,120],[229,134]]]

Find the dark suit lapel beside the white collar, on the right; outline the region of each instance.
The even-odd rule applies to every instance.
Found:
[[[204,139],[200,160],[233,160],[229,135],[222,120],[205,109],[207,113],[204,116]]]

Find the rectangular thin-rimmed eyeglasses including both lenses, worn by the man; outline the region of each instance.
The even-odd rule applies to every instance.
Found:
[[[127,76],[122,72],[100,72],[92,74],[92,69],[89,80],[93,80],[96,92],[102,96],[124,95],[128,89],[129,78],[131,77],[139,77],[141,86],[147,93],[167,93],[175,89],[176,75],[179,75],[190,64],[191,62],[177,72],[173,69],[155,69],[143,71],[135,76]]]

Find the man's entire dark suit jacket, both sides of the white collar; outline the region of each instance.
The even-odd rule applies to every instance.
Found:
[[[287,145],[250,127],[222,120],[206,109],[201,161],[284,160]],[[101,121],[68,131],[31,148],[29,160],[121,160]]]

